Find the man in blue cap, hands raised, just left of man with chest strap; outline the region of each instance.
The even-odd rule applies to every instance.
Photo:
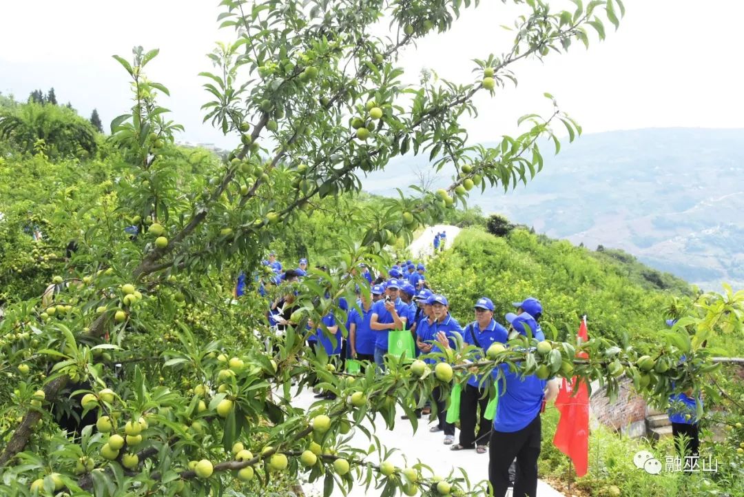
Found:
[[[429,303],[432,304],[432,313],[434,314],[434,324],[429,327],[431,332],[432,348],[430,353],[442,353],[443,345],[446,342],[449,347],[455,347],[455,335],[459,333],[460,336],[463,334],[463,329],[458,323],[458,320],[453,318],[449,314],[449,302],[444,295],[434,295],[429,298]],[[434,364],[443,359],[424,359],[429,364]],[[442,399],[442,392],[439,387],[434,388],[432,391],[432,397],[434,402],[437,403],[437,418],[439,423],[437,426],[433,426],[429,429],[429,432],[444,432],[444,445],[452,445],[455,443],[455,424],[447,423],[447,411],[446,403]]]

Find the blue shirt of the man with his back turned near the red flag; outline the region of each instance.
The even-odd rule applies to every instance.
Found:
[[[536,331],[535,338],[545,340],[540,330]],[[493,370],[493,379],[497,378],[499,369],[504,376],[498,382],[499,397],[493,429],[496,432],[519,432],[539,415],[548,382],[535,374],[522,378],[505,364]]]

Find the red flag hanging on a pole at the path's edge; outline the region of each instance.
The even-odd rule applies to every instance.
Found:
[[[588,340],[586,318],[579,327],[579,339]],[[577,353],[577,357],[586,358],[586,353]],[[571,458],[577,476],[586,475],[589,463],[589,390],[586,382],[578,382],[574,376],[569,384],[564,378],[556,398],[556,407],[560,411],[560,420],[556,428],[553,443],[559,451]]]

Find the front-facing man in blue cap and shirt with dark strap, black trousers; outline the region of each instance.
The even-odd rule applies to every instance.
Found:
[[[485,357],[486,350],[495,342],[505,344],[509,337],[506,328],[493,319],[493,302],[481,297],[475,301],[475,321],[463,331],[463,342],[478,347],[472,357],[478,361]],[[488,452],[488,437],[491,422],[484,417],[489,402],[490,378],[472,375],[460,396],[460,443],[452,450],[475,449],[478,454]],[[478,415],[478,408],[481,413]],[[475,433],[476,427],[478,433]]]

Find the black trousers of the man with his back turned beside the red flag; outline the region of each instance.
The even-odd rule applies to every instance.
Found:
[[[513,496],[536,497],[537,458],[540,455],[540,416],[519,432],[491,432],[488,479],[494,497],[504,497],[509,487],[509,466],[516,457],[516,480]]]

